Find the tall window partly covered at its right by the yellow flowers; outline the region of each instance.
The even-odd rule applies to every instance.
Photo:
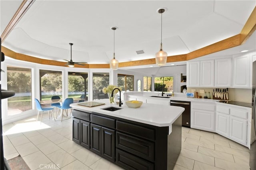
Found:
[[[108,94],[104,94],[102,89],[109,85],[108,72],[94,72],[92,75],[93,100],[107,99]]]

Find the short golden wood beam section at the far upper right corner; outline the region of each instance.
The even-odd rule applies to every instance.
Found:
[[[246,21],[242,31],[240,32],[240,43],[241,45],[244,44],[247,39],[252,35],[252,33],[256,30],[256,6],[254,7],[254,10],[252,11],[252,14]]]

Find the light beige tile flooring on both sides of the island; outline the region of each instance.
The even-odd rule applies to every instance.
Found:
[[[72,141],[72,119],[42,123],[36,116],[3,126],[4,156],[20,154],[30,169],[121,170]],[[175,170],[249,170],[248,148],[216,133],[182,127]]]

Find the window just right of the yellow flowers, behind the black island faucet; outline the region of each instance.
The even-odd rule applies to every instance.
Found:
[[[133,91],[134,76],[118,74],[117,75],[117,86],[122,88],[122,91]]]

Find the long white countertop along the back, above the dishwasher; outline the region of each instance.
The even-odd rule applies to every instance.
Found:
[[[146,98],[146,99],[155,99],[155,100],[179,100],[179,101],[189,101],[189,102],[203,102],[203,103],[215,103],[219,100],[214,100],[214,99],[204,99],[204,98],[187,98],[187,97],[176,97],[176,96],[170,96],[170,98],[157,98],[157,97],[150,97],[144,94],[129,94],[130,97],[139,97],[139,98]],[[156,95],[152,95],[152,96],[157,96]]]

